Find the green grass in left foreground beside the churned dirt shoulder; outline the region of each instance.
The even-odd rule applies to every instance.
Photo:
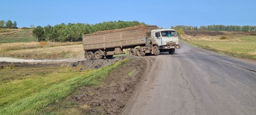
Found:
[[[98,86],[111,70],[128,60],[98,70],[80,71],[71,67],[14,67],[0,70],[0,113],[38,114],[79,87]]]

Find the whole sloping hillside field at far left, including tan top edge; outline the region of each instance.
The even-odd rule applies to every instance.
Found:
[[[32,29],[0,29],[0,43],[35,42]]]

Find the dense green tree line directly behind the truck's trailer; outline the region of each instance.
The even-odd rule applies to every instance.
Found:
[[[33,36],[39,41],[76,42],[82,40],[83,34],[97,31],[120,29],[137,25],[145,25],[138,21],[110,21],[96,24],[87,23],[62,23],[55,26],[37,26],[33,29]]]

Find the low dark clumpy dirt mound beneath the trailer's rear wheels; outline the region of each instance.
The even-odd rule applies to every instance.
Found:
[[[114,62],[122,60],[126,57],[135,58],[136,56],[121,56],[121,57],[116,57],[116,58],[113,58],[113,59],[102,59],[102,60],[84,60],[84,61],[74,62],[73,64],[70,64],[70,66],[72,66],[72,67],[82,66],[81,70],[99,69],[99,68],[102,68],[104,66],[111,65]]]

